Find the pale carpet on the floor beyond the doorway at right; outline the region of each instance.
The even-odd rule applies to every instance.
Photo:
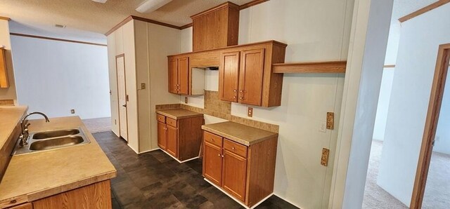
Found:
[[[383,142],[373,140],[362,208],[409,208],[376,184],[382,149]],[[450,156],[433,152],[422,208],[450,208]]]

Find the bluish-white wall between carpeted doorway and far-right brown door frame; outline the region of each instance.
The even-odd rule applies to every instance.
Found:
[[[450,4],[403,22],[378,184],[409,205],[438,47],[450,43]]]

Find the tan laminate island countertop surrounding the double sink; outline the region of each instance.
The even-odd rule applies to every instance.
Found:
[[[81,127],[91,141],[72,147],[15,155],[0,182],[0,208],[19,205],[109,180],[116,170],[78,116],[29,120],[31,132]]]

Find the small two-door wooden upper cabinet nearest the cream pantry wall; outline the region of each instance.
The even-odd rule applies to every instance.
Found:
[[[189,58],[169,57],[169,93],[187,95],[189,81]]]

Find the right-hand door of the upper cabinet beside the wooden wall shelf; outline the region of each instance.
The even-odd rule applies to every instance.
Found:
[[[264,48],[243,51],[239,74],[239,102],[261,106]]]

